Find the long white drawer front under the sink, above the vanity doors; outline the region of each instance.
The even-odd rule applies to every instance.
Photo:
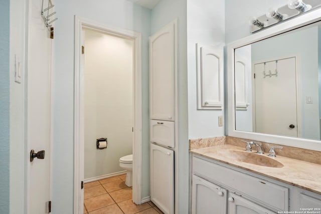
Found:
[[[247,198],[275,211],[289,208],[289,190],[264,179],[253,177],[239,171],[215,164],[193,156],[192,171],[200,177],[246,195]]]

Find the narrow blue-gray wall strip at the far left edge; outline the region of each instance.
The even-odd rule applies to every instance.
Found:
[[[9,213],[10,0],[0,2],[0,213]]]

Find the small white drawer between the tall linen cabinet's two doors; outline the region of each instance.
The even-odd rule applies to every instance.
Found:
[[[175,147],[175,122],[163,120],[150,121],[150,141]]]

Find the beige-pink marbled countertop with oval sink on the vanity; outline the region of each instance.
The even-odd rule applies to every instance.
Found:
[[[233,153],[233,151],[228,150],[237,152]],[[253,155],[260,154],[256,154],[256,151],[253,150],[251,152],[253,154],[250,154],[252,157],[248,154],[243,156],[241,155],[243,154],[241,152],[248,153],[245,151],[245,148],[230,144],[192,149],[190,152],[321,194],[320,164],[283,157],[280,155],[273,158],[268,157],[267,153],[265,153],[261,154],[265,157],[258,158],[260,159],[259,162],[263,162],[263,164],[266,162],[266,164],[272,164],[277,167],[256,165],[247,162],[253,162],[253,159],[256,159],[253,158]],[[231,155],[233,155],[233,157]],[[240,158],[238,158],[238,156]],[[243,161],[241,160],[242,158]]]

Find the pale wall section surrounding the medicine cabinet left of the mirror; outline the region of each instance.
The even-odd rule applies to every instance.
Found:
[[[196,43],[223,49],[225,45],[223,0],[187,1],[189,139],[224,135],[218,126],[223,110],[197,110]]]

